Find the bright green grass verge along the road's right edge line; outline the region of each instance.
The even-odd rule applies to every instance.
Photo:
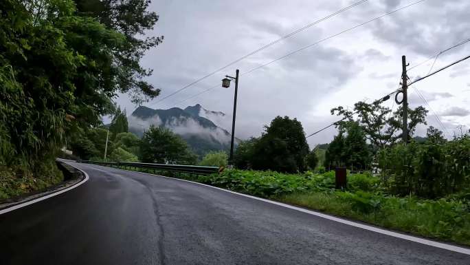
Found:
[[[291,193],[273,199],[388,229],[470,246],[469,205],[461,201],[394,198],[341,191]]]

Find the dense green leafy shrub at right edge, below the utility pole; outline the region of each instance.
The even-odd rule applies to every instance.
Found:
[[[438,198],[470,187],[470,137],[379,151],[383,184],[396,195]]]

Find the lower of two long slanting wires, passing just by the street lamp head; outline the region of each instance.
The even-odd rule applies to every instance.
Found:
[[[405,8],[409,8],[409,7],[414,6],[414,5],[418,4],[418,3],[421,3],[421,2],[423,2],[423,1],[426,1],[426,0],[415,1],[415,2],[413,2],[413,3],[408,4],[407,6],[403,6],[403,7],[401,7],[401,8],[396,9],[396,10],[387,12],[387,13],[385,13],[385,14],[382,14],[382,15],[379,16],[379,17],[375,17],[374,19],[370,19],[369,21],[366,21],[366,22],[360,23],[360,24],[358,24],[358,25],[355,25],[355,26],[353,26],[352,28],[348,28],[347,30],[343,30],[342,32],[338,32],[338,33],[333,34],[333,35],[331,35],[331,36],[328,36],[328,37],[326,37],[326,38],[324,38],[324,39],[321,39],[320,41],[316,41],[315,43],[311,43],[311,44],[309,44],[309,45],[306,45],[306,46],[304,46],[304,47],[302,47],[302,48],[300,48],[300,49],[298,49],[298,50],[295,50],[295,51],[293,51],[293,52],[289,52],[288,54],[285,54],[284,56],[281,56],[281,57],[279,57],[278,59],[274,59],[273,61],[270,61],[269,63],[265,63],[265,64],[263,64],[263,65],[259,65],[259,66],[257,66],[257,67],[254,67],[253,69],[251,69],[251,70],[249,70],[249,71],[247,71],[247,72],[245,72],[245,73],[243,73],[243,74],[240,74],[240,76],[243,76],[243,75],[245,75],[245,74],[250,74],[251,72],[254,72],[254,71],[256,71],[256,70],[258,70],[258,69],[260,69],[260,68],[262,68],[262,67],[266,67],[267,65],[270,65],[271,63],[274,63],[274,62],[276,62],[276,61],[279,61],[279,60],[282,60],[282,59],[284,59],[284,58],[287,58],[288,56],[291,56],[291,55],[293,55],[293,54],[296,54],[296,53],[298,53],[298,52],[301,52],[302,50],[306,50],[306,49],[309,48],[309,47],[313,47],[314,45],[318,45],[318,44],[320,44],[320,43],[322,43],[322,42],[324,42],[324,41],[328,41],[329,39],[332,39],[332,38],[334,38],[335,36],[338,36],[338,35],[340,35],[340,34],[344,34],[344,33],[346,33],[346,32],[349,32],[349,31],[351,31],[351,30],[354,30],[355,28],[359,28],[359,27],[361,27],[362,25],[366,25],[366,24],[371,23],[371,22],[373,22],[373,21],[377,21],[378,19],[381,19],[382,17],[388,16],[388,15],[393,14],[393,13],[395,13],[395,12],[399,12],[400,10],[403,10],[403,9],[405,9]],[[216,87],[216,86],[210,87],[209,89],[205,89],[205,90],[203,90],[203,92],[200,92],[200,93],[198,93],[198,94],[194,94],[194,95],[190,96],[189,98],[186,98],[185,100],[180,101],[179,103],[184,102],[184,101],[186,101],[186,100],[189,100],[190,98],[194,98],[195,96],[199,96],[200,94],[203,94],[203,93],[205,93],[205,92],[208,92],[208,91],[214,89],[215,87]],[[170,96],[171,96],[171,95],[170,95]],[[163,98],[163,99],[165,99],[165,98]],[[162,99],[162,100],[163,100],[163,99]],[[160,101],[161,101],[161,100],[160,100]],[[158,103],[158,102],[157,102],[157,103]]]

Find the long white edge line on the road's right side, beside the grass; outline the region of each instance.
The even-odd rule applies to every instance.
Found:
[[[103,167],[103,166],[101,166]],[[111,169],[115,169],[113,167],[111,167]],[[139,172],[139,171],[131,171],[131,170],[127,170],[127,169],[119,169],[119,170],[123,170],[123,171],[129,171],[129,172],[134,172],[134,173],[142,173],[142,174],[147,174],[147,175],[150,175],[150,176],[157,176],[157,177],[161,177],[161,178],[169,178],[171,180],[180,180],[180,181],[186,181],[186,182],[191,182],[191,183],[194,183],[194,184],[199,184],[199,185],[203,185],[205,187],[210,187],[210,188],[213,188],[213,189],[219,189],[221,191],[226,191],[226,192],[229,192],[229,193],[234,193],[236,195],[240,195],[240,196],[243,196],[243,197],[247,197],[247,198],[251,198],[251,199],[254,199],[254,200],[260,200],[262,202],[268,202],[268,203],[271,203],[271,204],[276,204],[278,206],[283,206],[283,207],[286,207],[286,208],[289,208],[289,209],[293,209],[293,210],[296,210],[296,211],[301,211],[303,213],[308,213],[310,215],[315,215],[315,216],[318,216],[320,218],[325,218],[325,219],[328,219],[328,220],[331,220],[331,221],[335,221],[335,222],[339,222],[339,223],[342,223],[342,224],[347,224],[347,225],[350,225],[350,226],[355,226],[355,227],[358,227],[360,229],[365,229],[365,230],[368,230],[368,231],[373,231],[375,233],[381,233],[383,235],[389,235],[391,237],[398,237],[398,238],[401,238],[403,240],[408,240],[408,241],[412,241],[412,242],[416,242],[416,243],[420,243],[420,244],[425,244],[427,246],[434,246],[436,248],[443,248],[443,249],[446,249],[447,251],[454,251],[454,252],[458,252],[458,253],[462,253],[462,254],[467,254],[467,255],[470,255],[470,248],[462,248],[460,246],[454,246],[454,245],[449,245],[449,244],[445,244],[445,243],[440,243],[440,242],[436,242],[436,241],[432,241],[432,240],[426,240],[424,238],[420,238],[420,237],[414,237],[412,235],[405,235],[405,234],[402,234],[402,233],[396,233],[396,232],[393,232],[393,231],[388,231],[388,230],[385,230],[385,229],[379,229],[377,227],[374,227],[374,226],[368,226],[367,224],[359,224],[357,222],[353,222],[353,221],[350,221],[350,220],[344,220],[342,218],[337,218],[335,216],[332,216],[332,215],[327,215],[327,214],[324,214],[324,213],[320,213],[320,212],[317,212],[317,211],[312,211],[312,210],[307,210],[307,209],[304,209],[304,208],[300,208],[300,207],[297,207],[297,206],[292,206],[292,205],[289,205],[289,204],[284,204],[282,202],[275,202],[273,200],[267,200],[267,199],[263,199],[263,198],[258,198],[258,197],[255,197],[255,196],[252,196],[252,195],[247,195],[247,194],[243,194],[243,193],[238,193],[236,191],[229,191],[227,189],[222,189],[222,188],[219,188],[219,187],[214,187],[214,186],[210,186],[208,184],[203,184],[203,183],[199,183],[199,182],[194,182],[194,181],[191,181],[191,180],[182,180],[181,178],[170,178],[170,177],[166,177],[166,176],[161,176],[161,175],[155,175],[155,174],[151,174],[151,173],[144,173],[144,172]]]

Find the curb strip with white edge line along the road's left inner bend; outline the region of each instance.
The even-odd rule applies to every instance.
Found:
[[[34,204],[36,202],[41,202],[41,200],[46,200],[56,195],[65,193],[66,191],[75,189],[76,187],[80,186],[81,184],[89,180],[88,174],[85,171],[82,171],[82,169],[79,169],[78,167],[74,167],[70,165],[67,161],[60,160],[60,159],[58,159],[58,161],[63,162],[66,165],[69,165],[70,167],[73,167],[74,169],[78,170],[78,172],[80,172],[80,174],[82,175],[82,178],[78,178],[74,180],[65,180],[64,182],[61,182],[60,184],[56,185],[56,187],[53,187],[52,189],[44,191],[42,193],[36,193],[30,196],[27,196],[25,198],[21,198],[19,201],[16,201],[16,202],[6,202],[3,204],[0,204],[0,215],[3,213],[14,211],[16,209],[23,208],[25,206]]]

